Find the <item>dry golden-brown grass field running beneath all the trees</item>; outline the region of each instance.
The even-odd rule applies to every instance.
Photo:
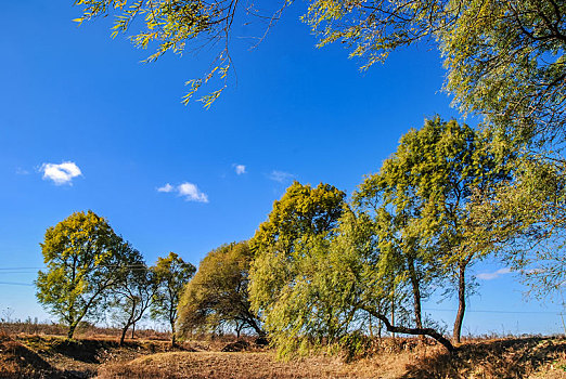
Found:
[[[472,339],[458,356],[433,342],[384,339],[349,363],[323,354],[282,362],[253,342],[223,352],[228,343],[188,341],[172,349],[163,340],[136,339],[119,347],[108,336],[66,341],[3,332],[0,378],[566,378],[564,338]]]

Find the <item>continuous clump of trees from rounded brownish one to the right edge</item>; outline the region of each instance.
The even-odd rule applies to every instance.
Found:
[[[179,330],[249,328],[288,355],[359,352],[385,327],[454,351],[474,263],[500,259],[538,293],[564,283],[552,245],[564,231],[564,184],[555,165],[489,129],[427,120],[350,201],[332,185],[295,182],[249,241],[211,251],[185,288]],[[434,292],[458,298],[452,341],[422,312]]]

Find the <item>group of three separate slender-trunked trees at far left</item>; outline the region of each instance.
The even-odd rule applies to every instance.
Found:
[[[120,343],[146,315],[175,323],[183,286],[196,269],[170,252],[149,266],[131,244],[92,211],[75,212],[49,227],[41,245],[46,271],[38,273],[37,298],[68,326],[112,313],[121,324]]]

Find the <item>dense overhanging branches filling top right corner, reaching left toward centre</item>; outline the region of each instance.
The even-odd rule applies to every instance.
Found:
[[[306,16],[319,45],[340,41],[363,68],[436,39],[445,89],[465,113],[522,140],[565,136],[566,4],[555,0],[316,0]]]

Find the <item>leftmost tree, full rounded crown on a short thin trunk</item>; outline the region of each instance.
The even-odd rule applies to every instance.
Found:
[[[137,251],[91,210],[75,212],[51,226],[40,244],[47,271],[39,271],[37,298],[61,317],[73,338],[83,318],[100,315],[105,295],[124,275]]]

